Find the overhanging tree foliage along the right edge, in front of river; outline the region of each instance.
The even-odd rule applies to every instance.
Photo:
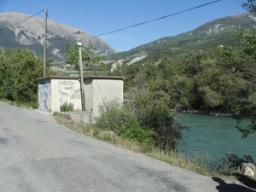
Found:
[[[256,1],[242,1],[241,6],[247,10],[248,15],[256,15]],[[241,132],[241,137],[245,138],[249,134],[256,132],[256,30],[241,29],[237,32],[242,45],[243,57],[246,58],[243,70],[246,86],[239,93],[239,100],[234,110],[233,117],[237,120],[236,128]],[[241,120],[251,119],[251,124],[241,126]]]

